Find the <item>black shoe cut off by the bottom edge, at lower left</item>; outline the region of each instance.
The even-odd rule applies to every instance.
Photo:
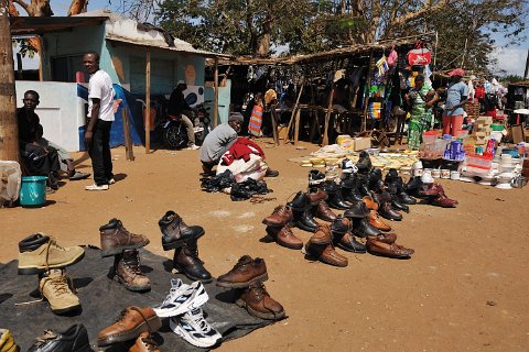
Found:
[[[44,331],[42,337],[29,352],[88,352],[91,351],[88,331],[82,323],[69,327],[66,331],[55,334],[52,330]]]

